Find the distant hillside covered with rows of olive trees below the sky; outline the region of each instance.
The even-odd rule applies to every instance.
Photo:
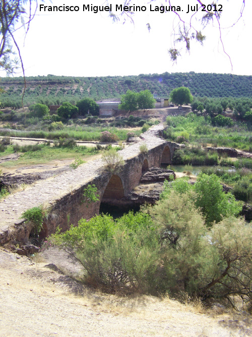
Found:
[[[96,101],[119,98],[128,89],[149,89],[157,97],[168,97],[169,92],[179,86],[187,86],[193,95],[199,97],[252,97],[252,76],[209,73],[163,73],[140,74],[138,76],[68,77],[37,76],[27,77],[24,104],[60,104],[65,101],[75,103],[81,98],[91,97]],[[0,77],[1,102],[6,106],[21,104],[24,88],[23,77]]]

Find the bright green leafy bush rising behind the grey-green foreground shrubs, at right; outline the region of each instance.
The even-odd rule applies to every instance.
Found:
[[[220,222],[223,217],[238,215],[242,207],[235,201],[234,196],[222,190],[220,179],[215,174],[201,174],[194,190],[197,195],[196,206],[206,216],[206,223]]]

